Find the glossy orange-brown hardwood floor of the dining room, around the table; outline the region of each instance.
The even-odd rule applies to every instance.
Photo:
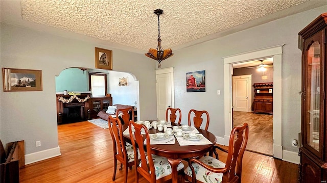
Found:
[[[113,155],[109,129],[87,121],[62,124],[58,126],[58,139],[61,155],[26,165],[20,170],[20,182],[124,181],[124,173],[119,170],[115,181],[112,181]],[[220,159],[225,161],[226,154],[220,154]],[[134,170],[128,171],[128,182],[135,182]],[[296,164],[249,151],[244,154],[242,170],[243,183],[295,183],[298,177]],[[148,181],[140,176],[139,182]]]

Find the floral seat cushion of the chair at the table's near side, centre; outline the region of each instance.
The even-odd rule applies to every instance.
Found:
[[[172,167],[169,164],[167,158],[152,154],[152,160],[155,169],[155,178],[157,180],[167,175],[170,175],[172,173]],[[139,163],[139,166],[141,167],[141,162]],[[180,163],[177,166],[177,171],[183,168],[184,168],[184,164]]]

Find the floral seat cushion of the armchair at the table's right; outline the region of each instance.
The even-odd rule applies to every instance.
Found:
[[[224,168],[225,163],[211,157],[211,156],[203,156],[200,158],[200,161],[208,166],[212,166],[214,168]],[[192,166],[194,167],[194,171],[196,174],[196,179],[201,182],[212,182],[212,183],[221,183],[223,174],[222,173],[213,173],[197,163],[193,163]],[[190,167],[184,170],[186,175],[192,177],[192,170]]]

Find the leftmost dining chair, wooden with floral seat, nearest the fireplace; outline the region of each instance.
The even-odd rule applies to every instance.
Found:
[[[113,145],[113,176],[112,180],[115,180],[117,160],[121,162],[119,170],[122,170],[124,165],[125,169],[125,183],[127,182],[128,168],[134,165],[134,147],[126,143],[123,137],[123,128],[122,123],[118,117],[113,118],[112,116],[108,117],[109,121],[109,131],[111,134],[112,145]],[[137,157],[137,156],[136,156]]]

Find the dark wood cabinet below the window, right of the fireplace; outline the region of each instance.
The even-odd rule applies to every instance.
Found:
[[[89,99],[89,112],[91,119],[97,118],[102,110],[107,111],[108,106],[112,106],[112,97],[92,97]]]

